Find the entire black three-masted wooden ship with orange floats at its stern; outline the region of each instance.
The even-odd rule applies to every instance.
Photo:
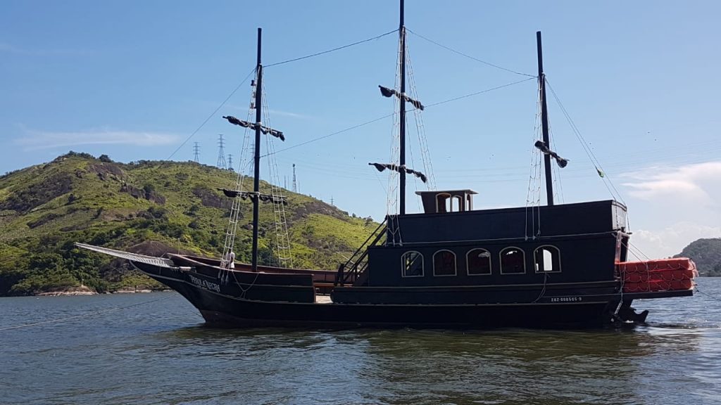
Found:
[[[284,139],[261,117],[261,30],[255,69],[255,121],[226,120],[255,131],[253,190],[222,190],[234,201],[220,259],[166,254],[149,257],[100,246],[81,248],[127,259],[133,267],[187,298],[211,326],[488,327],[597,326],[644,322],[637,299],[693,294],[696,270],[689,259],[627,262],[627,208],[616,200],[554,204],[541,33],[536,33],[546,205],[474,210],[473,190],[417,192],[422,213],[406,213],[406,105],[423,104],[406,92],[403,1],[400,2],[399,83],[381,86],[399,104],[398,161],[371,163],[397,174],[398,210],[337,270],[267,267],[258,263],[260,203],[283,219],[279,189],[260,192],[262,135]],[[239,175],[240,179],[240,175]],[[277,191],[277,192],[276,192]],[[241,200],[253,205],[252,262],[232,255]],[[232,264],[232,265],[230,265]]]

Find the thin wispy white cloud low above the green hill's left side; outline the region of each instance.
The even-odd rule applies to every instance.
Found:
[[[167,133],[132,132],[124,130],[89,130],[86,132],[46,132],[26,130],[23,138],[15,140],[25,151],[79,145],[162,146],[177,143],[177,135]]]

